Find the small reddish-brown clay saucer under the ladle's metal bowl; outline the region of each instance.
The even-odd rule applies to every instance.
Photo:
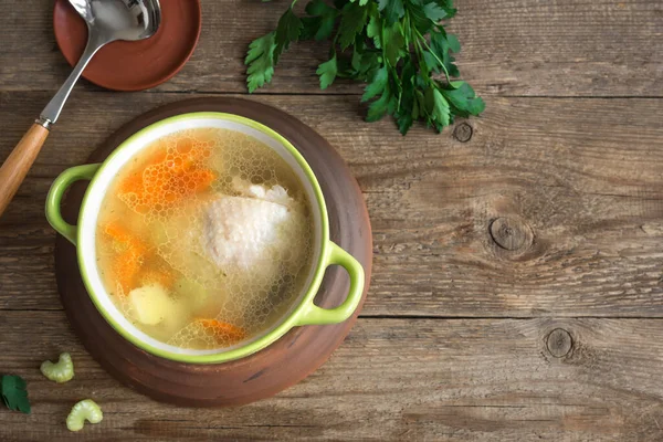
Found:
[[[199,0],[160,0],[161,24],[137,42],[116,41],[102,48],[83,76],[114,91],[143,91],[177,74],[193,53],[201,29]],[[87,43],[87,27],[67,0],[56,0],[53,30],[60,51],[73,66]]]

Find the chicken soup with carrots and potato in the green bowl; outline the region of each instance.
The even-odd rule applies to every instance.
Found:
[[[313,219],[304,188],[274,150],[219,128],[143,149],[99,212],[98,269],[136,327],[191,349],[270,330],[302,293]]]

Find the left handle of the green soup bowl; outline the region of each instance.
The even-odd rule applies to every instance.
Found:
[[[67,223],[62,218],[62,213],[60,212],[62,196],[75,181],[82,179],[91,180],[101,166],[101,164],[83,165],[66,169],[55,178],[55,181],[53,181],[53,185],[51,186],[51,190],[49,190],[49,196],[46,197],[46,219],[57,233],[70,240],[74,245],[76,245],[77,228]]]

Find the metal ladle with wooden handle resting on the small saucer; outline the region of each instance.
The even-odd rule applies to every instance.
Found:
[[[138,41],[154,35],[161,23],[159,0],[69,0],[87,24],[87,45],[73,72],[40,117],[0,167],[0,215],[9,206],[43,146],[51,126],[64,107],[74,85],[104,45],[117,41]]]

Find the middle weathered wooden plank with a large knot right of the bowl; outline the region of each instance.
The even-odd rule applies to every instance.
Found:
[[[0,94],[0,157],[45,98]],[[60,308],[43,218],[51,180],[179,98],[73,97],[0,220],[0,308]],[[352,96],[263,99],[319,130],[359,179],[376,253],[366,315],[663,316],[662,101],[491,99],[461,143],[454,128],[400,137],[388,120],[362,123]]]

